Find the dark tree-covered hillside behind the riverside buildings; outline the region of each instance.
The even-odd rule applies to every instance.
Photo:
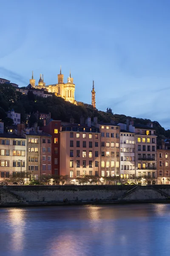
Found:
[[[99,122],[110,122],[114,120],[115,123],[126,123],[127,118],[133,119],[134,123],[144,125],[151,122],[150,119],[115,114],[111,108],[107,108],[105,112],[94,109],[92,105],[83,102],[77,102],[77,105],[74,105],[55,95],[43,98],[35,96],[31,91],[28,91],[28,95],[24,95],[17,92],[9,83],[0,84],[0,120],[2,120],[6,126],[12,125],[12,119],[7,118],[6,115],[6,112],[11,111],[12,108],[15,112],[21,113],[21,122],[24,123],[26,123],[26,114],[31,114],[29,120],[31,125],[38,121],[36,117],[33,116],[36,111],[40,113],[51,112],[52,119],[65,122],[69,122],[71,117],[74,118],[75,122],[79,122],[81,116],[85,118],[91,116],[92,120],[94,116],[96,116]],[[161,139],[170,138],[170,130],[165,131],[159,122],[153,121],[153,127],[156,129],[159,142]]]

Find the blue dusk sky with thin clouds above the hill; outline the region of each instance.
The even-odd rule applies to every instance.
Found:
[[[169,0],[1,1],[0,77],[27,86],[34,70],[75,99],[170,128]]]

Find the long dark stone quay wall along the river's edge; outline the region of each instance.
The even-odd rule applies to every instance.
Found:
[[[170,185],[154,186],[0,186],[0,205],[88,202],[170,201]]]

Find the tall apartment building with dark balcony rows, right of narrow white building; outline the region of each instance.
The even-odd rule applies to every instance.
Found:
[[[134,127],[136,176],[157,178],[156,131],[152,124],[136,124]],[[155,184],[156,181],[153,180],[151,183]]]

